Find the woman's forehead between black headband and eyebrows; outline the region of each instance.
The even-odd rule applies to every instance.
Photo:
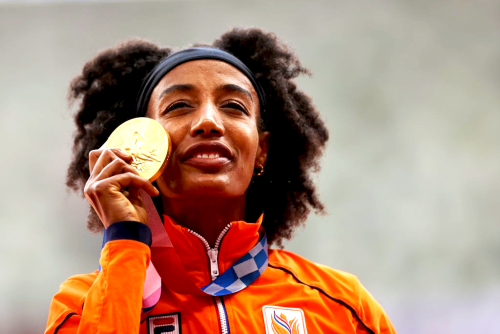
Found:
[[[220,60],[192,60],[175,67],[160,80],[152,95],[157,96],[163,89],[177,84],[191,84],[197,89],[214,89],[225,84],[236,84],[257,98],[257,92],[246,75]]]

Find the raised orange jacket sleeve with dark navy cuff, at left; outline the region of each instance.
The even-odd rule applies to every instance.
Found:
[[[68,279],[52,299],[46,334],[139,333],[151,232],[138,222],[118,222],[104,243],[101,271]]]

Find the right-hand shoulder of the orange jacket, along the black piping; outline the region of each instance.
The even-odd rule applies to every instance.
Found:
[[[269,267],[286,272],[297,283],[342,305],[368,332],[396,333],[383,308],[355,275],[277,249],[269,250]]]

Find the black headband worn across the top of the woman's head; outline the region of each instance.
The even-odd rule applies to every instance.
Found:
[[[161,63],[159,63],[153,71],[147,76],[146,80],[142,83],[141,89],[137,94],[137,116],[145,116],[148,109],[149,98],[153,93],[154,88],[160,82],[165,74],[167,74],[174,67],[186,63],[191,60],[198,59],[215,59],[222,60],[230,65],[233,65],[238,70],[240,70],[252,83],[257,95],[259,96],[260,112],[261,114],[266,109],[266,96],[262,86],[257,81],[255,75],[252,71],[238,58],[225,51],[208,48],[208,47],[196,47],[189,48],[176,52],[167,58],[165,58]]]

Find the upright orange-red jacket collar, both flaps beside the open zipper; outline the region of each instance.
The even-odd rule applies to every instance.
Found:
[[[259,241],[259,228],[262,225],[262,219],[263,215],[255,223],[231,222],[231,226],[223,236],[218,249],[219,274],[229,269]],[[163,222],[165,230],[193,283],[198,287],[209,284],[212,281],[210,259],[203,241],[167,215],[163,215]]]

